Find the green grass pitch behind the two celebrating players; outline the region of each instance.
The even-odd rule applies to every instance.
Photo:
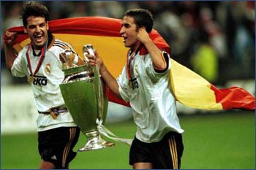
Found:
[[[179,118],[185,130],[181,169],[255,169],[255,112],[179,115]],[[130,139],[136,131],[132,120],[105,126],[117,136]],[[75,150],[85,143],[86,137],[80,134]],[[128,164],[129,146],[115,143],[115,147],[78,152],[69,169],[132,169]],[[1,135],[1,169],[38,169],[38,166],[37,134]]]

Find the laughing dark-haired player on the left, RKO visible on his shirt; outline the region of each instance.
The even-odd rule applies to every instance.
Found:
[[[78,142],[80,129],[74,123],[59,84],[64,80],[60,55],[71,50],[72,63],[82,64],[83,60],[71,45],[50,34],[49,12],[42,4],[28,2],[21,12],[24,32],[31,42],[15,55],[12,47],[15,32],[4,35],[4,53],[7,68],[15,77],[27,77],[33,89],[35,106],[38,110],[37,131],[38,150],[42,161],[39,169],[68,169],[69,162],[75,158],[72,149]],[[67,57],[67,56],[66,56]]]

